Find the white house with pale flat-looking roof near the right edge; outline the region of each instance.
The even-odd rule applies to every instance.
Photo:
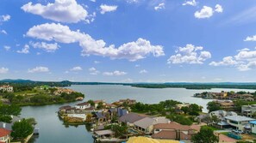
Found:
[[[247,129],[249,122],[256,120],[247,116],[225,116],[224,118],[229,125],[240,130]]]

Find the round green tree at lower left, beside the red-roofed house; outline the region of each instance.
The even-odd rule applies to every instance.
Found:
[[[12,132],[11,136],[15,140],[24,140],[28,137],[29,134],[32,134],[34,131],[34,128],[32,124],[28,122],[26,119],[22,119],[21,122],[15,122],[12,126]]]

